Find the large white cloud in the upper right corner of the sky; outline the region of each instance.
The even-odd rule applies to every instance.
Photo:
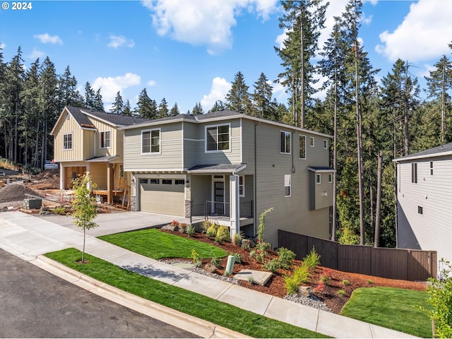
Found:
[[[390,61],[422,61],[448,54],[452,36],[452,1],[419,0],[410,5],[396,30],[382,32],[375,50]]]

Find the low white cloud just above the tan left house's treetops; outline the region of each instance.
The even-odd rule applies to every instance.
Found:
[[[93,87],[93,90],[98,90],[100,88],[102,100],[109,103],[114,102],[114,97],[116,97],[118,92],[122,92],[122,90],[131,86],[140,85],[140,83],[140,76],[133,73],[126,73],[124,76],[96,78],[91,87]]]

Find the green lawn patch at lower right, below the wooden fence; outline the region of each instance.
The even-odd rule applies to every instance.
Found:
[[[432,321],[419,307],[430,308],[427,292],[391,287],[358,288],[340,314],[395,331],[432,338]]]

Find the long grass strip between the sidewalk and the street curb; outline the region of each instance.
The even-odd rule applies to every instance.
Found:
[[[81,251],[77,249],[64,249],[45,256],[120,290],[254,338],[328,338],[305,328],[269,319],[198,293],[146,278],[95,256],[85,254],[85,259],[90,263],[79,264],[76,261],[81,259]]]

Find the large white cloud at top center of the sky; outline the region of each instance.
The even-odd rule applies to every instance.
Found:
[[[256,12],[263,20],[275,11],[276,0],[143,0],[153,12],[153,26],[159,35],[169,35],[179,42],[206,45],[208,53],[217,54],[232,47],[232,27],[242,9]]]

